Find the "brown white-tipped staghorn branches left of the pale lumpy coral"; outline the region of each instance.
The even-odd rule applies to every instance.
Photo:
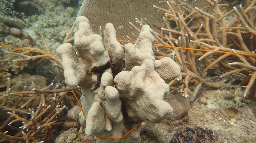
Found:
[[[70,40],[72,30],[70,32],[66,30],[66,32],[67,37],[64,42]],[[47,44],[45,40],[44,42]],[[49,47],[47,47],[47,49],[49,52]],[[50,53],[33,47],[15,48],[15,50],[6,51],[6,53],[14,54],[15,56],[11,56],[5,60],[1,59],[0,61],[0,81],[1,84],[3,83],[3,87],[6,87],[6,91],[0,93],[0,112],[1,115],[4,115],[3,117],[6,117],[6,119],[0,123],[0,142],[51,142],[58,132],[58,125],[63,124],[63,122],[59,120],[61,118],[60,115],[63,114],[64,105],[75,106],[67,95],[67,92],[71,91],[71,88],[54,87],[54,84],[49,84],[47,87],[44,85],[44,87],[39,87],[38,89],[35,87],[36,82],[45,84],[45,79],[39,81],[41,79],[37,77],[38,75],[34,75],[34,79],[38,81],[32,82],[29,86],[27,86],[24,81],[20,81],[20,79],[14,79],[15,82],[17,81],[19,84],[17,86],[15,85],[15,87],[13,85],[15,82],[11,82],[12,75],[8,73],[8,70],[12,69],[15,73],[19,73],[20,70],[26,67],[29,60],[41,59],[38,60],[39,63],[43,62],[45,59],[50,59],[56,62],[55,66],[61,73],[56,75],[62,77],[63,69],[61,66],[58,66],[60,59],[55,57],[54,54],[51,55]],[[35,53],[43,54],[38,55]],[[8,61],[8,64],[6,61]],[[20,90],[20,88],[22,89]],[[77,89],[78,88],[74,88],[74,90]],[[7,114],[7,112],[9,114]]]

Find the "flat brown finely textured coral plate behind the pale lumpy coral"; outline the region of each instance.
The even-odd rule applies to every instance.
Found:
[[[151,23],[160,25],[163,13],[154,9],[152,5],[159,0],[109,0],[102,3],[101,0],[83,0],[78,16],[85,16],[90,20],[92,31],[99,32],[101,26],[105,29],[105,24],[111,22],[118,35],[118,39],[136,39],[137,31],[134,31],[129,24],[135,17],[147,17]],[[161,5],[165,6],[165,5]],[[101,31],[100,31],[101,33]]]

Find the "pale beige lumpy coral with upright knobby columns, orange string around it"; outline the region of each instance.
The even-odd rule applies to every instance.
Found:
[[[105,26],[105,46],[102,37],[93,34],[86,17],[77,17],[76,26],[76,48],[65,43],[57,53],[66,84],[82,89],[81,104],[87,118],[80,113],[80,122],[84,125],[86,121],[86,135],[98,135],[97,143],[140,143],[136,129],[118,140],[101,137],[122,137],[135,123],[161,122],[172,115],[172,107],[163,101],[169,92],[165,80],[177,77],[180,67],[169,57],[154,59],[154,36],[148,25],[143,25],[135,44],[125,45],[125,54],[111,23]],[[126,71],[121,71],[123,58]],[[161,65],[165,67],[160,69]]]

